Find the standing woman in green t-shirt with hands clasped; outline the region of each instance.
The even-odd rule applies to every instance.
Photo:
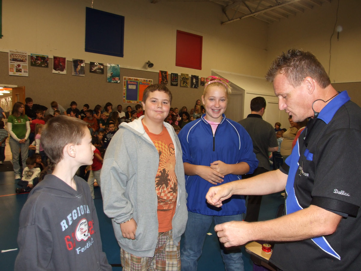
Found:
[[[13,167],[15,179],[21,178],[19,164],[19,150],[23,169],[26,167],[26,159],[29,154],[30,122],[25,115],[24,104],[16,102],[13,106],[12,115],[8,117],[8,132],[10,134],[9,145],[13,155]]]

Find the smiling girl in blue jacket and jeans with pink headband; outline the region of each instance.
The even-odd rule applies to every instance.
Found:
[[[205,114],[185,125],[178,134],[183,151],[188,222],[181,253],[182,270],[197,270],[206,233],[212,221],[220,224],[242,220],[245,212],[243,195],[234,195],[220,208],[206,203],[211,186],[239,180],[252,173],[258,160],[253,153],[252,139],[245,129],[223,114],[231,88],[228,80],[208,77],[202,95]],[[230,251],[222,246],[226,270],[243,270],[240,249]]]

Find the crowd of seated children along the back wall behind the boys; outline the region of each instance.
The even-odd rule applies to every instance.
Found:
[[[183,106],[181,108],[181,111],[179,112],[178,108],[175,107],[170,108],[169,116],[165,119],[166,122],[170,123],[172,126],[175,127],[175,130],[179,132],[181,128],[183,128],[184,125],[192,121],[193,119],[198,118],[201,116],[200,109],[200,100],[197,100],[195,108],[191,109],[192,116],[187,112],[187,107]],[[91,135],[95,136],[96,139],[101,142],[101,148],[104,147],[105,142],[105,148],[108,146],[110,139],[112,138],[113,134],[116,132],[118,126],[121,124],[121,122],[131,122],[136,119],[138,119],[140,116],[144,115],[143,106],[141,104],[135,105],[135,110],[132,110],[132,106],[127,106],[126,112],[123,112],[122,105],[118,104],[117,111],[113,110],[113,105],[110,102],[107,102],[103,108],[97,104],[93,110],[89,109],[89,104],[84,104],[83,109],[79,111],[77,108],[77,103],[75,101],[72,101],[70,103],[70,108],[65,110],[62,106],[60,106],[56,101],[51,102],[51,107],[46,108],[41,105],[33,104],[33,101],[31,98],[26,98],[26,111],[29,112],[29,116],[32,117],[30,121],[30,128],[31,128],[31,134],[30,134],[30,142],[31,145],[29,146],[29,157],[36,154],[41,154],[41,152],[44,152],[42,147],[40,146],[40,136],[41,132],[35,133],[35,125],[36,124],[45,124],[50,118],[54,116],[60,116],[62,114],[68,115],[70,117],[76,117],[79,119],[82,119],[83,121],[87,122],[88,128],[91,132]],[[34,111],[37,109],[36,111]],[[44,118],[44,111],[46,110],[46,116]],[[31,112],[34,111],[34,114]],[[180,115],[181,114],[181,115]],[[109,125],[112,123],[112,125]],[[110,127],[109,127],[110,126]],[[0,128],[1,129],[1,128]],[[178,130],[179,129],[179,130]],[[39,130],[41,131],[41,126],[39,126]],[[100,134],[99,131],[101,131]],[[38,135],[38,141],[35,141],[35,135]],[[103,139],[99,139],[98,136],[100,136]],[[45,154],[42,155],[42,163],[44,165],[47,165],[46,160],[44,160]],[[1,163],[1,161],[0,161]]]

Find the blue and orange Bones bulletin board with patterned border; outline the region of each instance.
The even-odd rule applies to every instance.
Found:
[[[123,77],[123,103],[142,103],[144,90],[153,84],[152,79]]]

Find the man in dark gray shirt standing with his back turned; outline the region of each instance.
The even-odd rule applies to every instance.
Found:
[[[262,119],[266,109],[266,100],[263,97],[256,97],[251,100],[251,114],[247,118],[240,120],[244,129],[248,132],[252,138],[253,152],[258,159],[258,167],[252,174],[243,175],[242,179],[250,178],[258,174],[269,171],[270,163],[268,159],[268,152],[274,152],[278,150],[277,137],[274,132],[274,128],[267,121]],[[249,195],[247,202],[247,212],[245,221],[258,221],[258,214],[260,212],[260,206],[262,201],[262,195]]]

